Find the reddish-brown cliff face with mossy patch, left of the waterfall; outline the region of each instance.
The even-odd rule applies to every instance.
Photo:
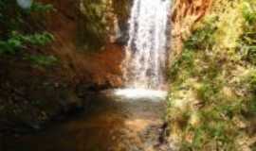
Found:
[[[117,2],[120,5],[126,1]],[[55,36],[47,52],[61,61],[58,76],[75,84],[119,86],[123,51],[116,35],[118,17],[125,16],[125,7],[120,10],[111,0],[44,0],[44,3],[57,9],[47,15],[46,28]]]

